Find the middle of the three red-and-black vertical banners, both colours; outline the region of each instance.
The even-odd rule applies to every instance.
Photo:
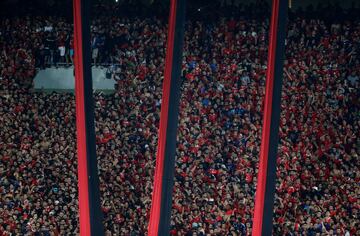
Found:
[[[171,0],[149,236],[170,231],[184,24],[185,0]]]

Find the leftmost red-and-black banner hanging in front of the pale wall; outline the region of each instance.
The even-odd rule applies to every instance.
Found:
[[[75,101],[81,236],[104,235],[91,77],[90,0],[74,0]]]

